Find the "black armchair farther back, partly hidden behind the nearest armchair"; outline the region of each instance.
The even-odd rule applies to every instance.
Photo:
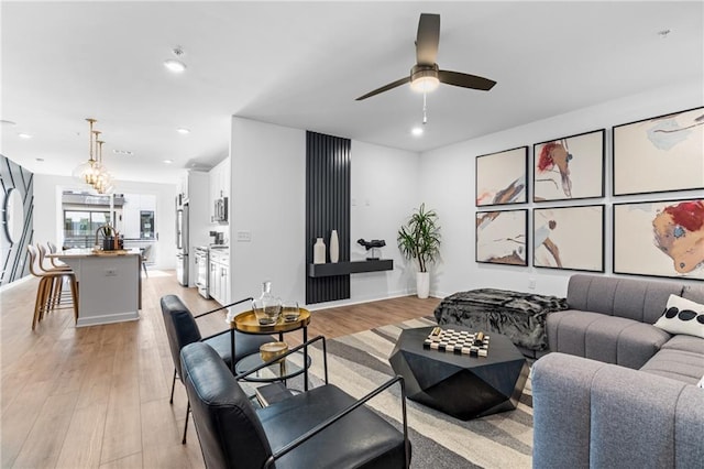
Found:
[[[168,337],[168,347],[172,352],[172,359],[174,360],[174,379],[172,380],[172,396],[168,401],[174,403],[174,388],[176,385],[176,377],[180,373],[180,349],[193,342],[204,342],[210,346],[220,357],[220,360],[227,364],[228,369],[232,368],[232,345],[230,329],[226,329],[221,332],[212,336],[202,337],[196,318],[202,317],[218,310],[228,308],[230,306],[238,305],[243,302],[251,301],[252,298],[240,299],[239,302],[222,306],[204,314],[194,316],[188,307],[176,295],[166,295],[162,297],[162,315],[164,316],[164,327],[166,328],[166,337]],[[265,342],[271,342],[270,336],[252,336],[240,332],[234,332],[235,337],[235,357],[234,362],[241,358],[256,353],[260,350],[260,346]],[[183,381],[183,380],[182,380]],[[184,438],[183,443],[186,443],[186,433],[188,432],[188,414],[190,412],[190,402],[188,408],[186,408],[186,424],[184,425]]]

